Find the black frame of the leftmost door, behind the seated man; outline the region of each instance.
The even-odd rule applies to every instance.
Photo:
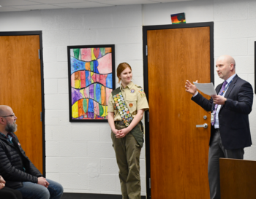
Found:
[[[45,177],[45,93],[44,93],[44,71],[43,71],[43,57],[42,57],[42,31],[8,31],[0,32],[0,36],[39,36],[39,56],[40,56],[40,70],[41,70],[41,96],[42,96],[42,175]]]

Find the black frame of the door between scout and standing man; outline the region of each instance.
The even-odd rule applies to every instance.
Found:
[[[211,82],[214,84],[214,22],[204,23],[185,23],[176,25],[159,25],[159,26],[143,26],[143,83],[144,90],[148,96],[148,55],[147,55],[147,31],[161,30],[161,29],[174,29],[174,28],[210,28],[210,72]],[[184,82],[185,84],[185,82]],[[151,169],[150,169],[150,138],[149,138],[149,112],[145,113],[145,147],[146,147],[146,195],[151,199]]]

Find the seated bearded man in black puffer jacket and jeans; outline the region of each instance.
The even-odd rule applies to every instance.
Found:
[[[61,198],[61,184],[42,177],[26,157],[14,133],[16,120],[10,106],[0,105],[0,173],[6,186],[19,190],[23,198]]]

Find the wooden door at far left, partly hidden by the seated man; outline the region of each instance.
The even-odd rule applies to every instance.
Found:
[[[15,133],[32,163],[42,166],[42,91],[39,35],[0,36],[0,104],[18,117]]]

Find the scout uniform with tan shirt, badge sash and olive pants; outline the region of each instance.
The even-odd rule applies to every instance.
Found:
[[[132,82],[118,87],[108,98],[108,112],[114,112],[116,129],[126,128],[138,110],[148,110],[148,101],[141,87]],[[140,198],[140,150],[143,147],[143,125],[135,126],[124,138],[111,132],[123,199]]]

